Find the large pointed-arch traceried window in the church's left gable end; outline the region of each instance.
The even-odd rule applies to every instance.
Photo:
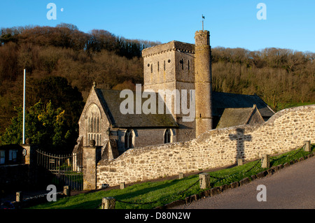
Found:
[[[102,134],[100,132],[100,120],[101,120],[101,111],[96,104],[92,104],[87,109],[87,127],[86,127],[86,145],[88,145],[90,140],[95,141],[95,145],[101,145],[102,143]]]

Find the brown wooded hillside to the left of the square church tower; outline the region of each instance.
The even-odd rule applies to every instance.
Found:
[[[52,106],[71,113],[68,117],[74,116],[70,118],[76,123],[82,108],[69,108],[70,99],[79,99],[76,92],[82,100],[94,81],[107,89],[142,83],[141,50],[160,44],[129,40],[105,30],[85,34],[71,24],[1,29],[0,43],[0,134],[18,115],[15,106],[22,106],[23,69],[27,72],[27,109],[38,100],[46,104],[49,98]],[[68,84],[72,91],[66,90]]]

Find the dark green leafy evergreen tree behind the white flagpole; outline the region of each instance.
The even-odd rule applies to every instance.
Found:
[[[13,117],[12,124],[1,136],[1,144],[22,143],[22,108],[17,108],[18,116]],[[39,145],[42,150],[65,150],[71,144],[73,132],[66,124],[62,108],[53,108],[52,103],[41,101],[25,112],[25,138]],[[72,148],[71,148],[72,149]]]

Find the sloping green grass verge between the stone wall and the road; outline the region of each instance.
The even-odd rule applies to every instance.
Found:
[[[314,152],[314,149],[315,146],[311,145],[311,152]],[[279,154],[270,158],[270,166],[285,164],[291,160],[304,157],[311,152],[304,152],[300,148]],[[230,184],[231,182],[242,180],[264,170],[264,168],[260,167],[260,160],[258,160],[248,162],[242,166],[209,172],[211,175],[211,187]],[[151,209],[172,201],[185,199],[187,196],[193,194],[199,194],[202,190],[200,190],[198,180],[199,175],[190,175],[180,180],[144,182],[126,187],[125,189],[111,189],[108,191],[78,194],[58,199],[55,202],[33,206],[31,209],[96,209],[100,208],[102,198],[107,196],[113,196],[116,199],[116,208],[118,209]]]

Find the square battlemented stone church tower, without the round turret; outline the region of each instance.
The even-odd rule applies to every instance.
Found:
[[[174,130],[174,138],[176,141],[195,138],[195,115],[193,122],[184,122],[183,117],[187,114],[174,112],[176,100],[179,100],[180,108],[183,108],[181,103],[183,90],[187,92],[187,108],[190,108],[190,89],[195,89],[195,45],[171,41],[142,50],[142,57],[144,58],[144,89],[155,92],[162,89],[173,93],[172,108],[169,110],[179,124],[179,128]]]

